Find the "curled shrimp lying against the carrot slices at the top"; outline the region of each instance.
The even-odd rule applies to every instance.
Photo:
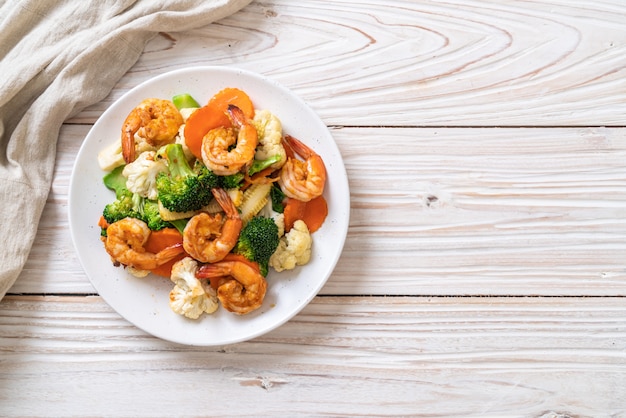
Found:
[[[241,109],[228,105],[228,113],[235,128],[212,129],[202,139],[202,161],[219,176],[235,174],[252,161],[259,142],[256,128]]]

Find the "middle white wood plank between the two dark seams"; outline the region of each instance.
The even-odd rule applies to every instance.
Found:
[[[52,192],[12,293],[95,292],[67,220],[88,129],[61,133]],[[626,129],[332,133],[352,211],[322,294],[626,294]]]

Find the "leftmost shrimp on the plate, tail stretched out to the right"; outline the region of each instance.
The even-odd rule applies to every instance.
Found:
[[[107,227],[104,248],[115,262],[139,270],[153,270],[183,253],[180,243],[156,254],[146,251],[144,246],[150,234],[150,228],[144,221],[124,218]]]

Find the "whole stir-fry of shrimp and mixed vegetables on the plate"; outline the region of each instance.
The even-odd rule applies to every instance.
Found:
[[[98,163],[104,249],[138,278],[169,278],[171,309],[191,319],[258,309],[268,272],[307,264],[328,214],[322,158],[237,88],[204,106],[143,100]]]

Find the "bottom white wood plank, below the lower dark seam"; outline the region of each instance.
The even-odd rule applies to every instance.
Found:
[[[7,417],[626,414],[622,298],[317,298],[215,348],[97,297],[8,297],[0,324]]]

